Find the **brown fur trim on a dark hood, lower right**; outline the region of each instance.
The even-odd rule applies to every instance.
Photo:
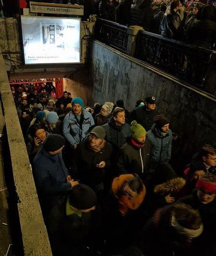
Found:
[[[178,193],[185,185],[186,181],[183,178],[174,178],[165,183],[156,185],[154,193],[157,195],[169,195]]]

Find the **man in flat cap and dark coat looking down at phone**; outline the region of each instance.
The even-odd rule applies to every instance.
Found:
[[[88,139],[81,142],[76,150],[72,171],[82,183],[90,186],[100,198],[104,190],[104,176],[110,168],[112,146],[105,141],[106,132],[96,126]]]

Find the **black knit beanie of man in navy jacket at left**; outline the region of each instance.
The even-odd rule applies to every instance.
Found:
[[[50,134],[43,147],[47,152],[54,152],[64,146],[64,144],[65,138],[63,136],[59,134]]]

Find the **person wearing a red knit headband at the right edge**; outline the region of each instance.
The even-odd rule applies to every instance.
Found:
[[[203,256],[211,246],[216,244],[215,235],[212,234],[212,231],[216,230],[216,174],[206,173],[196,183],[196,189],[192,195],[182,197],[178,202],[190,205],[200,212],[204,232],[195,244],[197,254],[194,255]]]

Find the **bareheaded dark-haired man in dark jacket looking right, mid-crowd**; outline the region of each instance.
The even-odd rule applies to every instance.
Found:
[[[107,141],[112,144],[114,152],[117,153],[131,135],[130,125],[125,122],[125,110],[115,108],[112,117],[103,127],[107,134]]]

